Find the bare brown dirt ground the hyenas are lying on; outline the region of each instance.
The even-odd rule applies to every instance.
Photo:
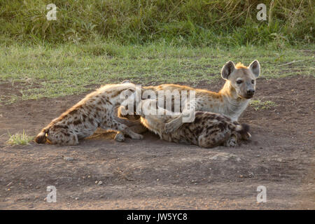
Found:
[[[151,133],[118,143],[102,131],[78,146],[6,146],[8,131],[35,136],[83,95],[0,106],[0,209],[315,209],[314,84],[258,79],[254,98],[277,106],[248,106],[240,121],[251,125],[253,140],[236,148],[174,144]],[[0,85],[0,95],[9,92],[18,94],[18,85]],[[57,188],[56,203],[45,201],[47,186]],[[267,188],[266,203],[256,201],[258,186]]]

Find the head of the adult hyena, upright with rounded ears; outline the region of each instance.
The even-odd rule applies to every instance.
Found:
[[[255,93],[256,78],[260,75],[260,64],[258,60],[254,60],[246,67],[239,63],[235,65],[233,62],[227,62],[222,70],[223,79],[230,82],[235,88],[239,97],[251,99]]]

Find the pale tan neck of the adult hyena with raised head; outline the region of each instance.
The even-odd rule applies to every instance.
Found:
[[[230,84],[229,80],[225,81],[223,88],[219,91],[223,97],[224,114],[232,120],[238,120],[241,113],[243,113],[248,106],[250,99],[239,97],[235,88]]]

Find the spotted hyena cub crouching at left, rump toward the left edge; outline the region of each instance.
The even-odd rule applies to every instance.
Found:
[[[127,124],[134,123],[132,120],[118,118],[115,108],[126,100],[133,100],[136,86],[132,83],[104,85],[98,90],[87,94],[78,104],[55,118],[50,124],[41,130],[35,141],[43,144],[76,145],[79,139],[89,137],[97,127],[104,130],[118,131],[116,137],[129,135],[132,139],[142,139],[141,134],[130,130]],[[126,91],[126,92],[123,92]],[[120,94],[126,98],[120,97]],[[121,134],[122,132],[123,134]],[[117,139],[116,139],[117,140]],[[119,141],[119,139],[118,139]]]

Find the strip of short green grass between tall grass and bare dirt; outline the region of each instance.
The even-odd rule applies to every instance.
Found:
[[[260,78],[314,77],[314,44],[300,48],[247,45],[239,48],[176,46],[167,43],[0,45],[0,104],[80,94],[96,85],[130,79],[138,84],[211,83],[228,60],[258,59]],[[303,51],[302,49],[307,49]],[[293,64],[283,65],[287,62]]]

